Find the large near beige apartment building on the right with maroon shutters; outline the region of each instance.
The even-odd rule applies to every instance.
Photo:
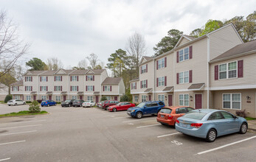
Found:
[[[139,78],[130,81],[133,100],[232,113],[246,109],[256,117],[255,50],[256,41],[243,43],[233,24],[200,38],[182,35],[170,52],[142,57]]]

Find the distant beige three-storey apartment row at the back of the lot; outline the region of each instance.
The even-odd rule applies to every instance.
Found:
[[[27,71],[24,80],[11,86],[13,98],[25,101],[83,99],[100,102],[102,96],[119,100],[125,94],[122,78],[108,77],[105,69]]]

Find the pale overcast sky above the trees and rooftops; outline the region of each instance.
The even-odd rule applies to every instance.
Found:
[[[77,66],[92,52],[105,64],[129,36],[145,37],[147,54],[170,29],[189,35],[207,20],[247,16],[255,0],[0,0],[0,10],[19,24],[19,35],[31,43],[27,60],[58,57],[64,68]]]

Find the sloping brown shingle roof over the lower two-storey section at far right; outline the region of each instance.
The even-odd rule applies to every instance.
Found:
[[[234,57],[240,57],[242,55],[251,54],[253,52],[256,52],[256,40],[252,40],[250,42],[243,44],[238,44],[232,49],[229,49],[223,54],[218,55],[218,57],[215,57],[214,59],[210,60],[210,63],[215,63],[221,60],[227,60]]]

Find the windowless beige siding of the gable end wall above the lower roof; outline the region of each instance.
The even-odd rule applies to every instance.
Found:
[[[243,43],[232,25],[210,34],[210,60]]]

